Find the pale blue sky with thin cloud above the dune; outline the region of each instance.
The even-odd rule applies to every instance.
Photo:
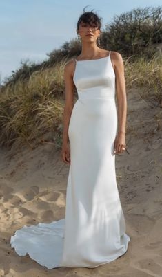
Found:
[[[154,0],[153,6],[158,5],[161,0]],[[77,38],[77,21],[85,6],[101,16],[105,29],[115,15],[152,6],[152,0],[0,0],[0,83],[21,61],[48,60],[48,53]]]

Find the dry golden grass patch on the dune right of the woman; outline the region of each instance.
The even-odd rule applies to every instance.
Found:
[[[125,80],[128,89],[139,88],[143,100],[153,105],[162,103],[162,54],[156,54],[149,61],[145,58],[136,58],[134,63],[130,58],[125,60]]]

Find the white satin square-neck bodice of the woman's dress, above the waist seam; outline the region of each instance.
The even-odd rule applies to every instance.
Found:
[[[79,98],[114,98],[115,74],[110,54],[94,60],[76,60],[73,81]]]

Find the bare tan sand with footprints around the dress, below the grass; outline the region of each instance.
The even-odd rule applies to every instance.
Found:
[[[65,217],[69,166],[53,144],[37,148],[13,144],[0,149],[0,276],[162,276],[161,109],[142,100],[138,89],[128,91],[129,155],[116,155],[117,185],[127,234],[128,252],[94,269],[47,269],[18,256],[10,236],[23,225]],[[18,147],[17,147],[18,146]]]

